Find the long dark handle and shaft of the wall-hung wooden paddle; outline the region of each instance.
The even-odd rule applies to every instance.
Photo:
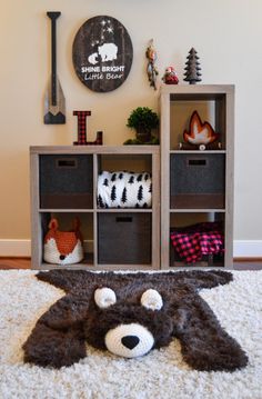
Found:
[[[52,106],[57,106],[57,19],[61,16],[60,11],[48,11],[47,16],[51,19],[51,67],[52,67]]]

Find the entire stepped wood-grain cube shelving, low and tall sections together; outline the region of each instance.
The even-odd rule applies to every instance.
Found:
[[[160,147],[30,148],[33,269],[232,268],[234,87],[162,86],[160,108]],[[180,149],[194,110],[220,133],[219,149]],[[150,171],[152,208],[100,209],[97,186],[103,170]],[[51,217],[68,230],[75,216],[83,230],[84,260],[63,267],[43,262],[43,238]],[[223,226],[224,253],[204,256],[189,266],[174,252],[170,233],[205,221]]]

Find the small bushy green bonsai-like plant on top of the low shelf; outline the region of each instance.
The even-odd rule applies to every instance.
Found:
[[[152,129],[158,128],[159,117],[148,107],[138,107],[129,119],[127,127],[135,129],[135,139],[128,140],[124,144],[157,144],[158,138],[153,137]]]

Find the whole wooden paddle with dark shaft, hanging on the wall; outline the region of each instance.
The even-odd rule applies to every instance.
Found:
[[[44,97],[44,117],[46,124],[66,123],[66,100],[61,84],[57,76],[57,19],[61,12],[48,11],[47,16],[51,19],[51,79]]]

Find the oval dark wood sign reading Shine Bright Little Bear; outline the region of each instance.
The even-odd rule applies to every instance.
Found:
[[[127,29],[115,18],[90,18],[73,41],[73,66],[79,79],[91,90],[112,91],[131,69],[133,47]]]

